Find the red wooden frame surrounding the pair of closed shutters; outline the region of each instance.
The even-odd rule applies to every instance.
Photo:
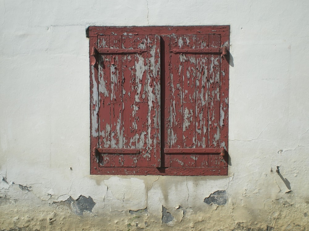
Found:
[[[188,32],[189,31],[189,32]],[[90,26],[87,31],[89,37],[90,60],[90,173],[94,175],[173,175],[173,176],[227,176],[228,174],[228,89],[229,89],[229,53],[221,55],[220,71],[224,78],[220,79],[220,137],[225,143],[219,149],[220,166],[218,168],[196,167],[99,167],[99,90],[98,90],[98,60],[95,49],[98,48],[99,35],[132,34],[132,35],[167,35],[167,34],[220,34],[221,46],[229,48],[230,26]],[[165,52],[160,50],[160,52]],[[166,65],[162,63],[161,65]],[[161,67],[163,71],[165,68]],[[161,69],[161,73],[162,73]],[[165,76],[161,76],[165,78]],[[163,92],[161,92],[162,96]],[[162,107],[162,105],[161,105]],[[164,118],[163,118],[164,119]],[[161,118],[162,120],[162,118]],[[162,125],[162,122],[161,122]],[[162,137],[162,136],[161,136]],[[162,142],[162,140],[161,140]],[[222,144],[220,140],[220,144]],[[161,149],[163,152],[163,148]],[[164,158],[164,153],[161,153]]]

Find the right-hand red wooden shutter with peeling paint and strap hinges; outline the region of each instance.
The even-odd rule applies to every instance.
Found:
[[[171,34],[165,44],[165,167],[227,166],[220,34]],[[222,70],[221,70],[222,69]],[[223,132],[222,132],[223,130]],[[221,134],[222,133],[222,134]],[[222,161],[221,161],[222,160]]]

